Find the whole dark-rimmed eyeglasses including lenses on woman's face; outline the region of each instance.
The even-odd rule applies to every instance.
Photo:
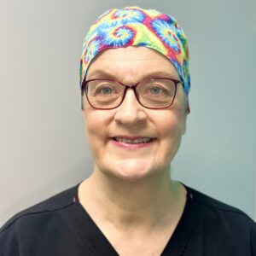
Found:
[[[183,82],[176,79],[158,78],[145,79],[134,85],[125,85],[111,79],[90,79],[82,83],[82,109],[84,91],[92,108],[113,109],[122,104],[128,89],[134,91],[137,101],[144,108],[168,108],[175,99],[177,84],[183,84]]]

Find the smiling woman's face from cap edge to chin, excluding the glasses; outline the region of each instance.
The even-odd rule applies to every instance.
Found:
[[[137,84],[155,77],[179,79],[176,68],[165,56],[153,49],[128,47],[102,51],[92,61],[86,79]],[[167,172],[186,129],[185,107],[180,84],[172,106],[165,109],[143,108],[131,89],[124,102],[111,110],[90,107],[84,96],[84,125],[95,171],[124,180]],[[138,138],[151,140],[138,143]]]

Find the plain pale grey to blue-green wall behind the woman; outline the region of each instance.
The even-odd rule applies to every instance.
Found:
[[[9,0],[0,2],[0,224],[90,175],[79,56],[96,17],[125,5],[173,15],[189,38],[191,113],[173,177],[253,218],[255,1]]]

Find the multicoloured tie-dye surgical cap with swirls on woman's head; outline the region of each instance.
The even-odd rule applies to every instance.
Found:
[[[90,27],[80,60],[80,84],[99,52],[127,46],[144,46],[165,55],[177,68],[189,94],[189,49],[183,29],[172,16],[139,7],[109,9]]]

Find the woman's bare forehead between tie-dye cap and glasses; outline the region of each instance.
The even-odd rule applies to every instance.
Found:
[[[109,73],[113,77],[158,76],[179,79],[177,69],[166,56],[154,49],[129,46],[126,48],[105,49],[91,62],[87,79],[96,78],[100,73]]]

